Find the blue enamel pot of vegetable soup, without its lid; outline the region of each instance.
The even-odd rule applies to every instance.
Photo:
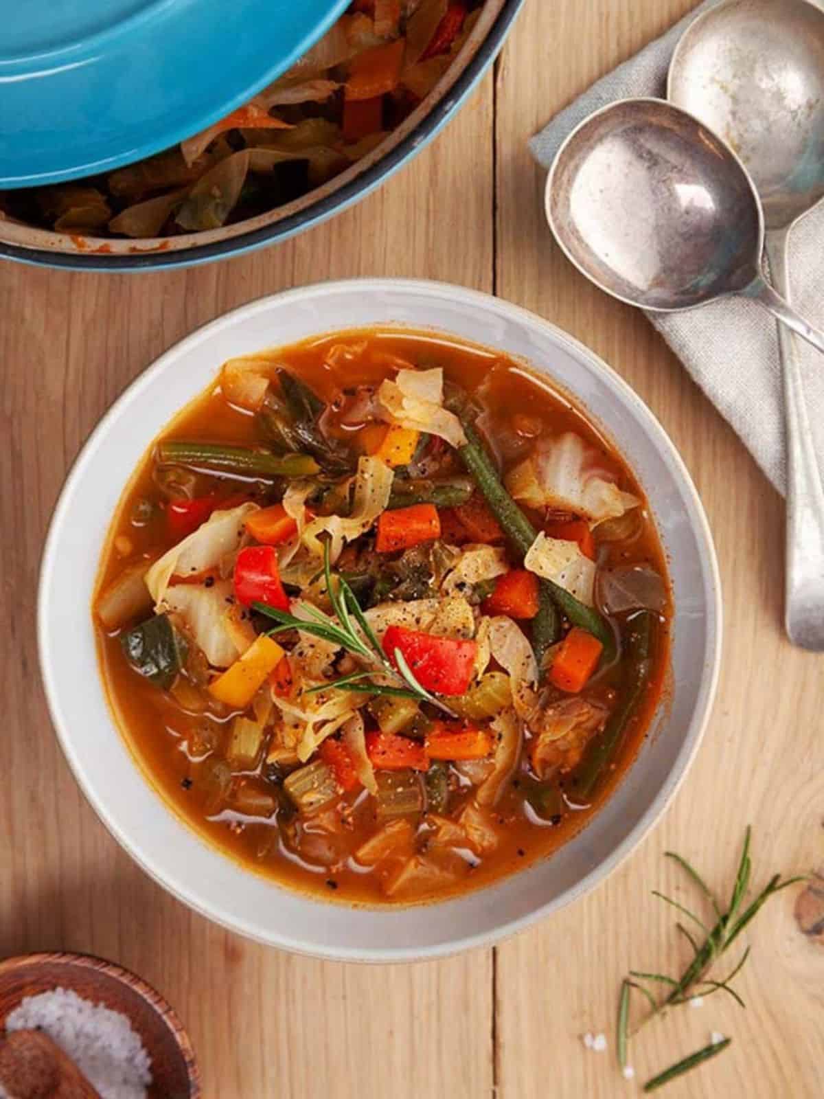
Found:
[[[205,130],[89,178],[0,189],[0,256],[145,270],[287,240],[364,198],[439,132],[522,3],[353,0],[292,68]]]

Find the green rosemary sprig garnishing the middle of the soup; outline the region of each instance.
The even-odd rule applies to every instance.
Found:
[[[316,691],[329,690],[331,687],[335,687],[341,690],[357,691],[364,695],[391,695],[394,698],[411,698],[419,702],[430,702],[450,718],[455,718],[456,714],[445,702],[442,702],[439,698],[436,698],[425,687],[421,686],[399,648],[394,651],[397,667],[392,665],[346,578],[338,575],[337,584],[333,582],[329,542],[325,542],[323,546],[323,575],[332,610],[334,611],[334,617],[337,619],[336,622],[310,602],[304,603],[304,607],[307,613],[312,615],[311,621],[296,618],[288,611],[277,610],[267,603],[255,602],[252,606],[256,611],[279,623],[274,630],[269,631],[270,634],[286,633],[288,630],[301,630],[313,637],[320,637],[323,641],[331,642],[333,645],[337,645],[339,648],[345,648],[353,656],[359,656],[364,660],[377,664],[378,667],[371,671],[356,671],[353,675],[343,676],[341,679],[335,679],[332,682],[311,687],[307,693],[312,695]],[[363,637],[358,633],[356,624],[360,626]],[[376,674],[390,676],[399,686],[375,682],[372,676]]]

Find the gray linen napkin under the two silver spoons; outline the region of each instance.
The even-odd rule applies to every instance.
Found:
[[[567,107],[530,142],[548,168],[567,134],[592,111],[630,96],[666,96],[667,69],[678,41],[708,0],[656,42],[619,66]],[[790,240],[792,301],[824,328],[824,204],[798,225]],[[733,425],[779,492],[784,491],[783,398],[776,324],[754,302],[726,299],[688,313],[648,313],[693,379]],[[804,374],[813,442],[824,470],[824,362],[795,341]]]

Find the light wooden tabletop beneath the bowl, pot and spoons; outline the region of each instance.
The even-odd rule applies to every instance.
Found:
[[[782,502],[645,320],[559,255],[525,147],[552,114],[691,5],[526,0],[494,73],[434,145],[378,193],[289,244],[167,274],[0,268],[0,955],[86,951],[142,974],[186,1020],[207,1099],[602,1099],[638,1094],[638,1080],[711,1031],[732,1034],[731,1050],[670,1085],[671,1099],[824,1092],[824,952],[793,915],[803,887],[772,900],[751,926],[751,958],[737,980],[746,1011],[722,993],[656,1021],[633,1046],[635,1083],[613,1059],[623,974],[684,961],[670,912],[650,897],[656,887],[689,897],[665,850],[725,890],[747,822],[757,881],[824,862],[824,658],[793,650],[782,634]],[[611,363],[692,473],[715,536],[726,620],[720,692],[698,761],[664,821],[605,885],[495,950],[375,968],[254,945],[151,881],[68,771],[34,630],[52,508],[125,385],[224,310],[358,275],[494,290]],[[587,1031],[605,1032],[610,1051],[584,1050]]]

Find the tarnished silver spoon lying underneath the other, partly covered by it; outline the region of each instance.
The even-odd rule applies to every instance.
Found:
[[[790,297],[793,225],[824,196],[824,11],[806,0],[727,0],[690,25],[669,69],[670,100],[721,134],[764,206],[772,284]],[[786,621],[824,651],[824,490],[798,348],[778,326],[787,429]]]

